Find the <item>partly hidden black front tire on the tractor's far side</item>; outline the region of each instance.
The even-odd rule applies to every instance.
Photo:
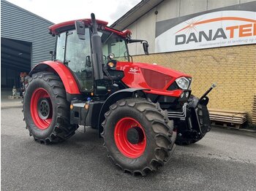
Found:
[[[188,103],[195,98],[196,97],[194,95],[190,95]],[[200,141],[201,139],[203,139],[203,137],[206,136],[206,133],[208,133],[211,130],[211,122],[210,122],[207,106],[198,104],[196,108],[197,108],[197,114],[198,114],[197,115],[198,122],[200,123],[200,128],[202,132],[198,132],[198,130],[183,131],[181,133],[181,136],[179,136],[179,129],[178,129],[177,139],[175,142],[176,144],[178,145],[195,144],[197,141]]]

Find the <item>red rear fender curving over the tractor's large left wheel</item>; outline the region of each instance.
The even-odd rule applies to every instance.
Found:
[[[31,76],[39,71],[53,71],[58,74],[65,87],[68,100],[72,98],[72,95],[81,95],[78,83],[76,82],[72,71],[70,71],[64,63],[61,63],[60,61],[44,61],[35,66],[34,69],[30,71],[29,75]]]

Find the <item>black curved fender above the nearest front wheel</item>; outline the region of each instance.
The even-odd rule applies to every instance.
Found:
[[[135,97],[135,93],[138,93],[138,95],[140,95],[140,97],[144,97],[146,98],[146,93],[143,92],[143,90],[148,90],[148,89],[143,89],[143,88],[127,88],[124,90],[118,90],[117,92],[113,93],[112,95],[110,95],[105,103],[102,106],[102,109],[100,109],[99,112],[99,121],[98,121],[98,127],[99,127],[99,136],[100,133],[102,133],[102,122],[105,120],[105,112],[108,112],[109,107],[112,104],[115,104],[116,101],[121,100],[123,98],[132,98]]]

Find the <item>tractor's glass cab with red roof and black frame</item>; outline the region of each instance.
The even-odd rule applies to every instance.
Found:
[[[77,22],[77,23],[76,23]],[[113,62],[130,61],[127,43],[132,43],[131,32],[117,31],[106,26],[108,23],[97,20],[97,33],[102,45],[102,68],[108,67]],[[80,28],[79,25],[82,27]],[[94,63],[91,50],[91,36],[93,30],[91,19],[72,20],[51,26],[50,33],[57,37],[54,59],[64,63],[74,74],[81,93],[94,92],[106,93],[108,88],[96,85],[94,81]],[[78,31],[79,30],[79,31]],[[82,35],[81,35],[82,34]],[[137,40],[136,42],[142,42]],[[145,45],[143,45],[145,46]],[[103,90],[103,91],[102,91]]]

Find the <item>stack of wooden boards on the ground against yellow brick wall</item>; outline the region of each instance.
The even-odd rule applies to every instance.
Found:
[[[212,125],[222,125],[227,128],[241,128],[247,120],[247,113],[224,109],[209,109]]]

